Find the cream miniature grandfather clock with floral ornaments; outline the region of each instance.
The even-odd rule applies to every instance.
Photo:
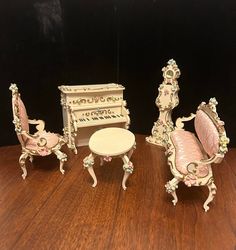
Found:
[[[162,72],[164,80],[158,88],[159,94],[156,98],[159,118],[154,123],[152,135],[147,137],[146,141],[166,148],[169,133],[174,130],[171,113],[179,104],[177,79],[180,76],[180,70],[176,62],[171,59],[168,61],[168,65],[162,69]]]

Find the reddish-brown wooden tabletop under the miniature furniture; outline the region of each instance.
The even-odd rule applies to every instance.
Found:
[[[26,180],[20,146],[1,147],[0,249],[235,249],[236,149],[213,166],[218,189],[205,213],[206,187],[181,183],[179,202],[172,205],[164,188],[172,177],[164,150],[144,135],[135,137],[135,170],[126,191],[119,158],[95,164],[99,185],[88,185],[88,147],[78,148],[78,155],[67,151],[65,175],[55,156],[35,158]]]

